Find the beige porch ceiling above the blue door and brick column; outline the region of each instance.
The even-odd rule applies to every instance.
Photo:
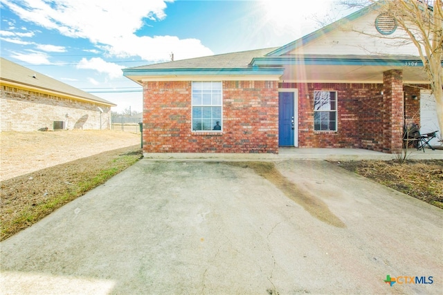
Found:
[[[403,70],[404,84],[428,84],[421,66],[352,66],[293,65],[284,66],[283,82],[383,83],[386,70]]]

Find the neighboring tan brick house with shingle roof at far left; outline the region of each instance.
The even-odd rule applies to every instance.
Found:
[[[0,131],[109,129],[116,106],[3,58],[0,87]]]

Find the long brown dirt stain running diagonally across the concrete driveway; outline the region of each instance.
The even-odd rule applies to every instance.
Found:
[[[223,162],[230,166],[239,166],[242,168],[253,169],[257,175],[269,180],[275,187],[278,187],[282,193],[288,198],[305,208],[311,216],[318,220],[326,222],[334,227],[346,227],[346,225],[334,215],[327,207],[327,204],[309,193],[305,189],[301,189],[295,183],[285,178],[280,171],[275,168],[272,162]]]

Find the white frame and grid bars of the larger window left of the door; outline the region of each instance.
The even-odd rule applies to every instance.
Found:
[[[194,87],[195,87],[195,85],[197,84],[197,83],[201,83],[201,85],[202,85],[202,88],[203,88],[203,84],[206,84],[206,85],[208,85],[208,84],[210,84],[210,91],[204,91],[204,90],[202,90],[202,99],[201,99],[201,104],[195,104],[195,99],[194,99],[194,95],[195,95],[195,93],[194,93]],[[214,84],[215,83],[217,83],[217,84],[220,84],[219,86],[219,88],[220,88],[220,93],[214,93]],[[208,133],[208,132],[215,132],[215,133],[221,133],[221,132],[223,132],[223,83],[221,82],[221,81],[193,81],[192,82],[192,87],[191,87],[191,131],[193,132],[193,133]],[[210,94],[210,96],[211,96],[211,104],[204,104],[204,102],[203,102],[203,94]],[[220,104],[214,104],[214,97],[213,97],[213,95],[215,95],[215,94],[219,94],[220,95],[220,100],[219,100],[219,102],[220,102]],[[210,120],[211,120],[211,129],[203,129],[203,130],[194,130],[194,107],[211,107],[211,108],[214,108],[214,107],[219,107],[220,108],[220,117],[218,118],[213,118],[212,117],[212,113],[211,113],[211,118],[210,118]],[[213,119],[219,119],[219,120],[217,120],[217,121],[219,121],[219,124],[220,124],[220,126],[221,126],[221,129],[220,130],[213,130],[214,129],[214,126],[215,126],[215,122],[212,122],[213,121]],[[204,120],[204,118],[201,118],[201,120],[202,120],[202,123],[203,123],[203,120]]]

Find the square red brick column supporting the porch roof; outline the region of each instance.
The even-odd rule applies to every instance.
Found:
[[[383,73],[383,151],[396,153],[403,147],[403,71]]]

